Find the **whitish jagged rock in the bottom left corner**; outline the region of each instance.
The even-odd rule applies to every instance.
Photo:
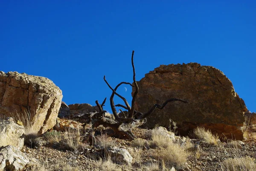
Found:
[[[0,147],[0,171],[18,171],[29,162],[28,157],[12,145]]]

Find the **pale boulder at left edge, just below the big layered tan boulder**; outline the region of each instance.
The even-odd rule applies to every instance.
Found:
[[[12,118],[0,120],[0,147],[6,145],[21,149],[24,145],[25,128],[15,124]]]

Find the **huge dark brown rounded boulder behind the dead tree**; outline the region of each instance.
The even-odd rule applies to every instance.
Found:
[[[137,83],[136,110],[140,112],[147,112],[153,104],[163,104],[170,98],[189,101],[188,104],[170,102],[163,110],[154,110],[146,127],[158,124],[167,128],[172,119],[180,135],[204,126],[227,138],[243,138],[240,128],[247,107],[220,70],[197,63],[161,65]]]

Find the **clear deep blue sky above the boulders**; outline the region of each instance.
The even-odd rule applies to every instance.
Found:
[[[67,104],[109,98],[104,75],[132,82],[132,50],[137,80],[160,64],[210,65],[256,112],[256,1],[0,0],[0,70],[51,79]]]

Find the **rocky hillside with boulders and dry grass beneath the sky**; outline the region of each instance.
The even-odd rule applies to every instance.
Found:
[[[256,170],[255,113],[221,71],[160,66],[138,87],[129,117],[133,104],[67,105],[47,78],[0,72],[0,171]]]

